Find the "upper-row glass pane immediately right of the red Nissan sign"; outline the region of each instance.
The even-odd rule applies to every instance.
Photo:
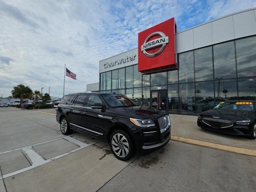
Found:
[[[193,51],[179,54],[180,83],[194,81],[194,53]]]

